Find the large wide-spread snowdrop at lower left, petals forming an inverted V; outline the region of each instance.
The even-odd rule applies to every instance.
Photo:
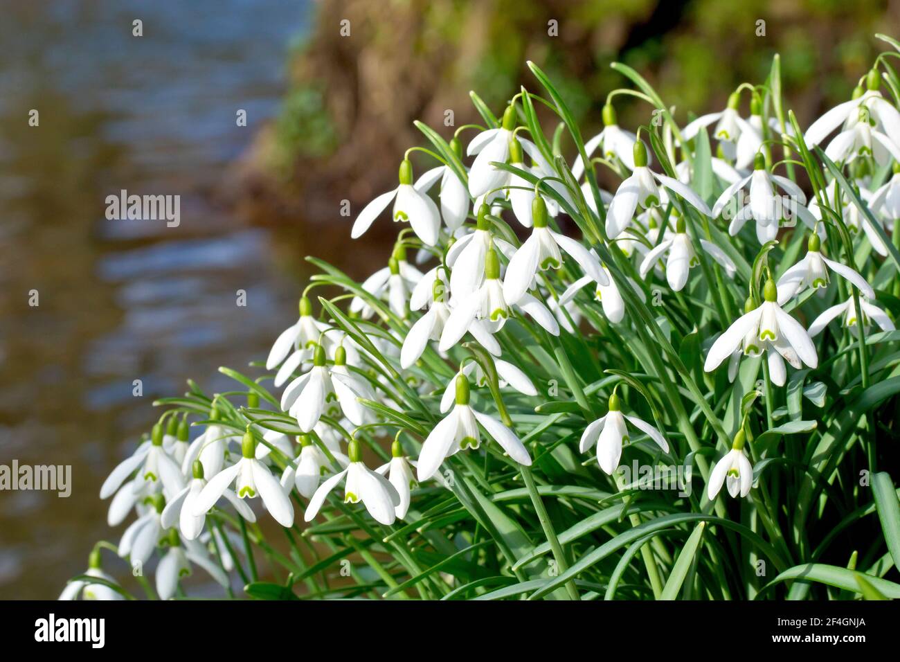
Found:
[[[219,474],[212,476],[200,494],[193,499],[193,507],[190,511],[194,517],[209,512],[211,507],[225,495],[229,485],[235,484],[235,492],[241,499],[257,495],[266,507],[266,510],[284,527],[293,525],[293,505],[284,494],[278,479],[272,476],[268,467],[256,458],[257,442],[249,426],[241,441],[241,458],[237,463],[222,469]]]

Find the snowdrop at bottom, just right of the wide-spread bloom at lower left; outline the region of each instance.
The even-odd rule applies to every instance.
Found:
[[[331,491],[346,476],[344,487],[344,503],[363,502],[365,510],[372,515],[374,521],[385,525],[393,524],[397,519],[396,508],[400,505],[400,494],[387,478],[366,467],[362,461],[359,442],[350,441],[347,445],[347,457],[350,463],[343,471],[331,476],[319,486],[312,495],[310,503],[303,514],[305,521],[312,521],[319,514],[322,503],[325,503]]]

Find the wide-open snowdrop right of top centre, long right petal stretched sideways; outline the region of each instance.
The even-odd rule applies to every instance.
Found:
[[[635,210],[638,206],[650,207],[654,204],[660,204],[663,193],[660,186],[657,186],[657,181],[662,185],[663,189],[677,193],[699,212],[705,213],[707,216],[710,215],[707,204],[689,186],[685,186],[678,179],[657,175],[653,170],[647,168],[647,148],[644,146],[644,142],[635,142],[634,155],[634,172],[631,177],[628,177],[619,185],[616,195],[613,196],[613,201],[609,204],[607,214],[607,234],[609,239],[616,239],[622,231],[625,231],[635,216]]]

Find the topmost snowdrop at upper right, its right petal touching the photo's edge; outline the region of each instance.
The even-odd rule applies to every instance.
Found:
[[[803,137],[806,144],[812,148],[813,145],[824,141],[832,131],[843,124],[844,131],[834,139],[837,141],[848,131],[854,131],[856,125],[861,122],[869,126],[869,133],[872,137],[875,137],[876,134],[880,136],[876,138],[876,141],[886,149],[887,145],[884,144],[882,138],[887,138],[895,146],[900,145],[900,113],[878,92],[879,82],[878,70],[873,68],[866,77],[868,90],[863,93],[862,88],[858,87],[854,90],[854,98],[851,101],[837,104],[813,122]],[[865,116],[860,114],[860,107],[865,109]],[[871,128],[873,126],[884,132],[873,131]],[[855,138],[855,135],[853,137]],[[846,136],[842,139],[843,142],[848,140]],[[828,146],[829,149],[831,147],[831,145]]]

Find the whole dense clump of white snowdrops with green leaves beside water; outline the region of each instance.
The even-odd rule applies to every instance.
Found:
[[[632,537],[617,582],[640,573],[632,594],[660,597],[680,577],[676,594],[718,597],[698,589],[712,572],[694,560],[704,545],[719,564],[806,562],[812,543],[785,531],[779,487],[760,473],[782,451],[811,461],[782,441],[815,445],[840,388],[893,377],[873,356],[896,342],[896,309],[879,301],[898,282],[888,62],[806,131],[784,109],[777,59],[764,83],[686,125],[618,65],[636,88],[610,93],[602,131],[582,141],[530,63],[545,95],[523,87],[496,117],[473,94],[483,123],[449,140],[417,122],[428,147],[403,156],[398,186],[335,228],[356,239],[397,223],[387,265],[357,283],[310,258],[321,273],[257,376],[221,368],[237,390],[190,382],[157,403],[159,422],[100,494],[111,526],[133,521],[63,597],[131,597],[101,569],[110,549],[163,599],[183,596],[197,567],[230,595],[239,576],[256,597],[305,584],[314,596],[590,599],[615,576],[595,566],[603,540],[688,515],[671,524],[685,536],[697,524],[672,548],[693,550],[686,563]],[[647,105],[634,132],[617,123],[623,95]],[[878,457],[874,433],[857,447]],[[632,507],[644,497],[624,453],[694,475],[666,503]],[[817,469],[831,482],[840,465]],[[780,489],[811,503],[821,485],[792,470]],[[610,506],[616,516],[598,517]],[[277,542],[264,517],[284,529]],[[729,521],[746,549],[704,534]],[[355,581],[335,582],[345,558]]]

